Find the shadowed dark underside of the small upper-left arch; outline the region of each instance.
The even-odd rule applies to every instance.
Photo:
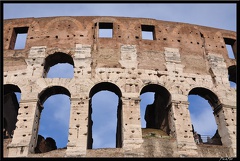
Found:
[[[58,63],[69,63],[74,67],[74,61],[71,55],[63,52],[55,52],[45,58],[43,77],[47,76],[50,67]]]

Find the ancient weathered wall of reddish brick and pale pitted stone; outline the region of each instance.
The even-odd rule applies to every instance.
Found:
[[[112,35],[101,37],[101,29]],[[150,40],[142,36],[144,31],[152,34]],[[231,45],[236,58],[236,32],[147,18],[79,16],[8,19],[3,33],[4,87],[21,92],[8,157],[35,153],[42,105],[54,94],[71,100],[64,155],[87,156],[92,144],[90,100],[101,90],[119,97],[116,137],[123,156],[139,156],[135,149],[144,151],[150,145],[143,139],[140,121],[144,92],[164,96],[164,103],[156,102],[162,113],[154,117],[175,139],[170,146],[177,149],[174,156],[211,155],[199,151],[194,142],[189,94],[209,101],[222,147],[229,157],[236,156],[236,90],[229,83],[236,83],[236,60],[226,49]],[[27,34],[26,45],[15,49],[21,33]],[[57,63],[73,65],[74,77],[47,78]],[[169,155],[156,150],[150,156]]]

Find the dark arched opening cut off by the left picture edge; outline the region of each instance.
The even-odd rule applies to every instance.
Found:
[[[12,138],[16,128],[21,90],[13,84],[5,84],[3,104],[3,138]]]

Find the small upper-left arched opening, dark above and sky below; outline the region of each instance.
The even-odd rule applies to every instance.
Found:
[[[45,59],[44,78],[73,78],[74,62],[70,55],[56,52]]]

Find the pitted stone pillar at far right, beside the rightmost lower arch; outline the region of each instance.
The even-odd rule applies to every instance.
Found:
[[[237,109],[234,106],[221,104],[214,110],[218,133],[223,146],[229,147],[230,157],[237,156]]]

